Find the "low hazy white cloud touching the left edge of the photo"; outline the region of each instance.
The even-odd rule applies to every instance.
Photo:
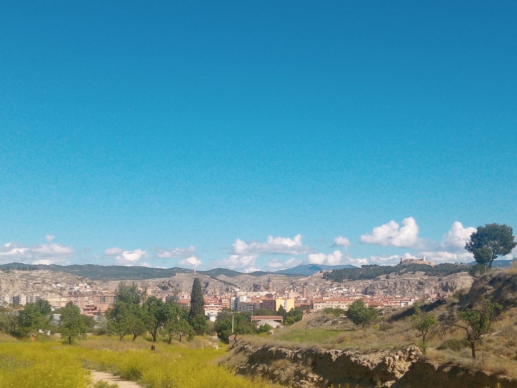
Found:
[[[19,243],[6,243],[0,246],[0,263],[14,260],[31,264],[68,264],[75,254],[72,247],[48,242],[47,244],[26,247]]]

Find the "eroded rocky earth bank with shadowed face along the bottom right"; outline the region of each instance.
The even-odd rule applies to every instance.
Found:
[[[286,349],[236,344],[229,363],[244,375],[262,375],[272,381],[297,387],[328,387],[331,384],[385,386],[392,388],[514,388],[517,381],[488,375],[452,364],[435,364],[419,358],[417,347],[397,351]],[[240,360],[240,361],[233,361]],[[242,361],[246,360],[246,361]]]

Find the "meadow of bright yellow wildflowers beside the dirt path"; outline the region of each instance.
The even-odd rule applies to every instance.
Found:
[[[202,338],[188,345],[159,342],[150,350],[146,339],[118,341],[89,337],[77,345],[59,339],[19,341],[0,336],[0,387],[70,388],[89,387],[90,369],[111,372],[148,388],[267,388],[263,380],[236,376],[218,366],[224,349],[214,349]]]

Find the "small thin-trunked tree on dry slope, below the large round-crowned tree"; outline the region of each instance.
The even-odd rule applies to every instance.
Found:
[[[470,342],[472,359],[476,360],[476,343],[482,341],[483,335],[490,333],[503,306],[492,302],[491,297],[481,296],[479,309],[466,309],[458,312],[460,321],[450,321],[452,326],[465,330]]]

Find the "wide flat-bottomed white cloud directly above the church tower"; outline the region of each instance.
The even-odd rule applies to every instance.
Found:
[[[267,237],[267,243],[249,242],[237,240],[232,244],[232,254],[239,256],[258,256],[263,253],[269,255],[306,255],[314,252],[309,246],[302,245],[301,234],[294,238],[288,237]]]

